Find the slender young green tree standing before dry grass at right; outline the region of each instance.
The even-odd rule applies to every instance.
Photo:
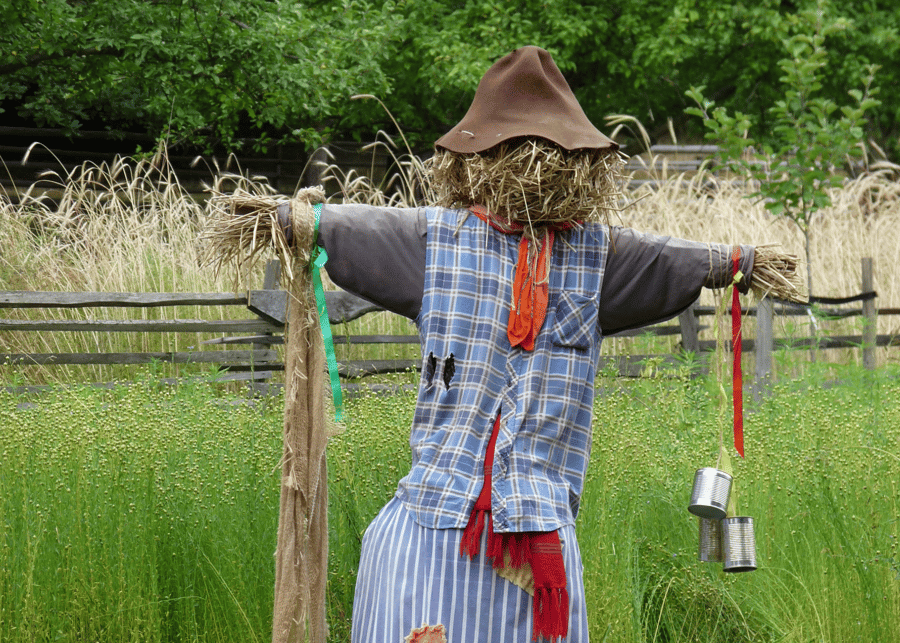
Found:
[[[771,133],[765,139],[750,136],[746,114],[713,109],[714,102],[703,97],[702,87],[687,92],[698,105],[687,112],[703,118],[707,138],[721,146],[726,165],[758,185],[751,196],[763,199],[768,210],[787,216],[802,230],[810,290],[810,222],[831,204],[828,188],[844,180],[840,170],[863,155],[866,113],[879,104],[873,97],[875,65],[866,66],[861,88],[847,92],[849,104],[839,107],[823,95],[829,57],[826,38],[848,26],[846,20],[828,19],[821,6],[791,17],[790,36],[781,43],[786,56],[778,62],[783,97],[768,110]]]

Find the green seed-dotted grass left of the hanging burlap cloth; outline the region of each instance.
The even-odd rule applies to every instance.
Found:
[[[260,640],[274,410],[152,379],[18,403],[0,403],[0,640]]]

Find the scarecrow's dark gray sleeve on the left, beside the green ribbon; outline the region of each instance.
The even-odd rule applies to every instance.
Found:
[[[415,319],[425,292],[425,230],[421,208],[325,204],[317,243],[335,284]]]

